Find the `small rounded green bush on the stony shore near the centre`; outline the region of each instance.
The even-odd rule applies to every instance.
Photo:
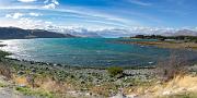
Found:
[[[112,66],[107,69],[107,72],[109,73],[111,76],[116,76],[118,74],[123,74],[124,70],[123,68]]]

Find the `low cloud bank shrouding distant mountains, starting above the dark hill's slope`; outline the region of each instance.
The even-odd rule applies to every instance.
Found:
[[[103,29],[86,29],[83,27],[46,27],[47,30],[71,34],[81,37],[128,37],[135,35],[164,35],[164,36],[178,36],[188,35],[197,36],[197,28],[159,28],[159,27],[130,27],[125,28],[103,28]]]

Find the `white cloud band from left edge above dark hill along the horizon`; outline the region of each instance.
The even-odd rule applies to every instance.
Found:
[[[132,36],[136,34],[165,34],[165,33],[175,33],[184,28],[170,28],[170,27],[142,27],[142,26],[132,26],[130,28],[117,28],[117,27],[91,27],[86,26],[59,26],[53,22],[36,20],[34,17],[21,17],[18,20],[14,19],[4,19],[0,21],[0,26],[14,26],[25,29],[47,29],[59,33],[80,33],[86,30],[88,33],[96,33],[105,37],[119,37],[119,36]],[[196,29],[196,28],[189,28]]]

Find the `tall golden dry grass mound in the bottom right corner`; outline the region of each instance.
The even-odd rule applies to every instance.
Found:
[[[166,84],[159,86],[155,96],[161,97],[186,93],[197,93],[197,77],[178,75]]]

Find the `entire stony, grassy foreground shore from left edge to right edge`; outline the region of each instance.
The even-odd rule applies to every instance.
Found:
[[[162,68],[123,68],[123,73],[112,76],[108,68],[70,66],[5,58],[9,54],[0,52],[0,74],[7,82],[11,82],[11,93],[23,94],[24,96],[21,96],[24,98],[160,98],[158,96],[175,95],[175,91],[171,90],[181,87],[187,90],[190,88],[190,85],[188,87],[179,83],[176,84],[176,89],[171,89],[176,85],[161,81],[159,73]],[[194,81],[194,84],[197,65],[187,69],[189,76],[183,77]],[[175,77],[175,82],[182,82],[182,78]],[[7,83],[0,85],[0,88],[8,86]],[[184,89],[177,93],[185,93]]]

